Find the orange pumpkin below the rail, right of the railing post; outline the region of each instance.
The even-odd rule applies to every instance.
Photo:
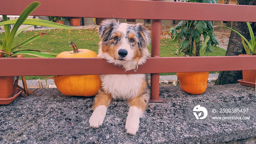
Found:
[[[189,94],[203,94],[207,88],[209,72],[177,72],[180,87]]]

